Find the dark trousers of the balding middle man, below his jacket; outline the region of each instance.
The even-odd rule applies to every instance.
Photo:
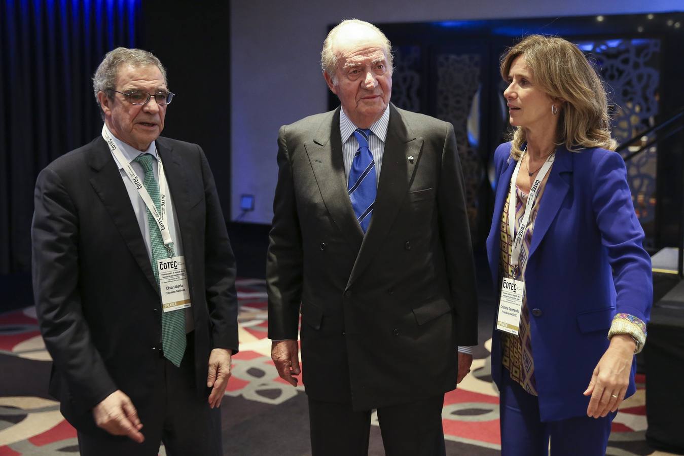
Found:
[[[445,456],[444,394],[378,409],[386,456]],[[371,410],[308,399],[312,456],[367,456]]]

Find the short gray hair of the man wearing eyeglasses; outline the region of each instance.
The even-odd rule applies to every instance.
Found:
[[[102,110],[100,100],[97,99],[97,94],[98,92],[105,92],[109,96],[107,89],[116,88],[116,77],[122,65],[135,67],[154,65],[161,71],[164,83],[167,83],[166,68],[164,68],[153,53],[142,49],[129,49],[125,47],[118,47],[109,51],[92,77],[92,90],[95,95],[95,101],[100,106],[100,115],[103,120],[105,119],[105,112]]]

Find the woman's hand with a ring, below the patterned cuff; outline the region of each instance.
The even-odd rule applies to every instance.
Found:
[[[616,334],[610,339],[610,345],[596,364],[589,386],[583,393],[592,396],[587,407],[588,416],[599,418],[618,410],[629,386],[635,347],[636,343],[629,334]]]

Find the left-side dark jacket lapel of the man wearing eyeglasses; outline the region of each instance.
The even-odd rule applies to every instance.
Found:
[[[105,140],[99,137],[95,140],[92,153],[88,155],[88,163],[93,170],[90,185],[102,200],[109,212],[114,226],[120,232],[133,258],[144,272],[153,289],[159,293],[159,287],[152,271],[152,264],[147,254],[145,241],[142,239],[140,226],[137,224],[133,206],[126,187],[121,180],[118,167],[111,157]]]

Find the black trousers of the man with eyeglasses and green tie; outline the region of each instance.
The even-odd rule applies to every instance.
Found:
[[[193,351],[191,335],[180,367],[160,356],[156,388],[144,407],[133,403],[143,425],[142,444],[102,429],[94,434],[79,432],[81,455],[157,456],[161,442],[169,456],[222,455],[220,409],[210,409],[206,399],[198,398]]]

